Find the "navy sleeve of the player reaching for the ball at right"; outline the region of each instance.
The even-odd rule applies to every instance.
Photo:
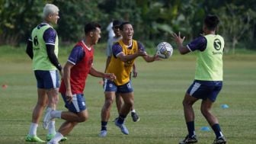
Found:
[[[206,49],[207,40],[205,37],[197,37],[195,40],[187,44],[187,48],[190,51],[200,50],[203,51]]]

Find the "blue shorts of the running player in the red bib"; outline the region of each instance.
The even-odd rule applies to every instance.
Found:
[[[62,98],[65,101],[65,107],[73,113],[81,112],[86,109],[84,94],[73,94],[72,102],[66,101],[66,94],[62,94]]]

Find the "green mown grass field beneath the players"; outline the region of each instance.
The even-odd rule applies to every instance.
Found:
[[[66,61],[69,50],[62,50],[60,59]],[[94,68],[104,70],[105,57],[97,51]],[[194,78],[195,57],[192,54],[180,56],[176,51],[170,59],[146,63],[136,61],[138,78],[133,78],[135,107],[141,118],[134,123],[127,117],[126,126],[130,135],[124,136],[114,123],[108,124],[108,135],[98,137],[101,128],[101,107],[104,103],[100,78],[88,77],[85,88],[89,120],[79,123],[67,136],[72,144],[172,144],[187,135],[181,101]],[[256,56],[255,52],[224,56],[224,86],[213,106],[219,118],[222,132],[230,144],[248,144],[256,141]],[[0,47],[0,143],[26,143],[24,137],[30,126],[31,113],[37,101],[37,88],[31,62],[24,49]],[[222,104],[229,108],[222,109]],[[59,110],[63,107],[59,101]],[[208,126],[200,114],[200,101],[194,105],[196,133],[199,144],[209,144],[215,138],[213,130],[202,131]],[[117,117],[117,109],[111,110],[110,120]],[[56,120],[56,128],[63,120]],[[37,135],[45,139],[46,130],[40,123]],[[29,142],[28,142],[29,143]]]

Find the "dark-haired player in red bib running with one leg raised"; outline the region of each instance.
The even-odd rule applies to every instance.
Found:
[[[59,127],[58,133],[49,144],[56,144],[69,134],[78,123],[88,120],[88,110],[85,104],[83,91],[88,74],[113,81],[113,73],[98,72],[92,67],[94,45],[101,38],[101,26],[97,23],[85,24],[85,39],[79,41],[69,55],[64,66],[63,78],[59,88],[65,106],[69,111],[52,110],[46,114],[46,124],[54,118],[66,120]]]

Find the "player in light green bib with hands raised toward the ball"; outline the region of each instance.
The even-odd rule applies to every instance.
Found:
[[[173,34],[181,54],[190,52],[197,53],[194,82],[190,85],[190,88],[187,89],[183,100],[188,135],[180,144],[197,142],[194,128],[193,104],[199,99],[202,99],[201,113],[216,134],[216,139],[213,144],[226,143],[218,119],[210,112],[219,91],[222,89],[222,54],[224,40],[223,37],[216,34],[218,24],[218,17],[215,15],[207,15],[203,23],[203,36],[191,41],[187,46],[183,46],[185,37],[181,38],[180,33],[178,35]]]

